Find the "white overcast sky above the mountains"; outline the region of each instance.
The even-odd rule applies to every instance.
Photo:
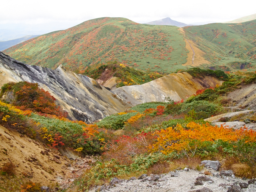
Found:
[[[0,29],[46,33],[99,17],[125,17],[138,23],[166,17],[187,24],[222,22],[255,14],[255,5],[255,0],[5,0],[1,2]]]

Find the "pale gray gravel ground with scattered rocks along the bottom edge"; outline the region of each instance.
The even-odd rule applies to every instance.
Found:
[[[208,170],[211,175],[204,175]],[[103,186],[97,186],[90,192],[103,191],[103,192],[187,192],[190,190],[197,190],[201,188],[209,188],[213,192],[227,192],[229,185],[238,185],[239,183],[247,183],[249,179],[242,180],[241,178],[233,178],[226,176],[216,176],[220,172],[212,169],[204,169],[202,172],[189,170],[189,171],[176,171],[169,172],[162,175],[150,175],[145,179],[135,180],[116,180]],[[158,180],[157,176],[160,178]],[[203,185],[195,186],[196,178],[205,176],[210,181],[202,181]],[[154,181],[154,179],[156,181]],[[207,179],[206,179],[207,180]],[[113,180],[112,180],[113,181]],[[256,183],[256,182],[255,182]],[[249,184],[248,188],[243,188],[241,192],[256,192],[256,184]]]

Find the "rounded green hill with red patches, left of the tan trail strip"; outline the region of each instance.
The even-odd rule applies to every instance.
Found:
[[[137,69],[171,72],[185,68],[185,42],[174,26],[152,26],[125,18],[99,18],[16,45],[4,52],[27,64],[83,70],[117,60]]]

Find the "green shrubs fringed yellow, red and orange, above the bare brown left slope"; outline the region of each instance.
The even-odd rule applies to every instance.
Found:
[[[31,114],[36,123],[42,125],[39,133],[42,138],[52,147],[67,146],[76,150],[82,149],[86,154],[100,154],[103,144],[100,142],[100,132],[97,125],[64,121]],[[78,150],[79,150],[78,149]]]

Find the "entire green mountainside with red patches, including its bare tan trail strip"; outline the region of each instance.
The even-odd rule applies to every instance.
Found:
[[[255,22],[182,29],[106,17],[36,37],[4,52],[27,64],[48,68],[62,64],[76,73],[115,60],[135,69],[162,73],[190,67],[249,69],[256,66]]]

